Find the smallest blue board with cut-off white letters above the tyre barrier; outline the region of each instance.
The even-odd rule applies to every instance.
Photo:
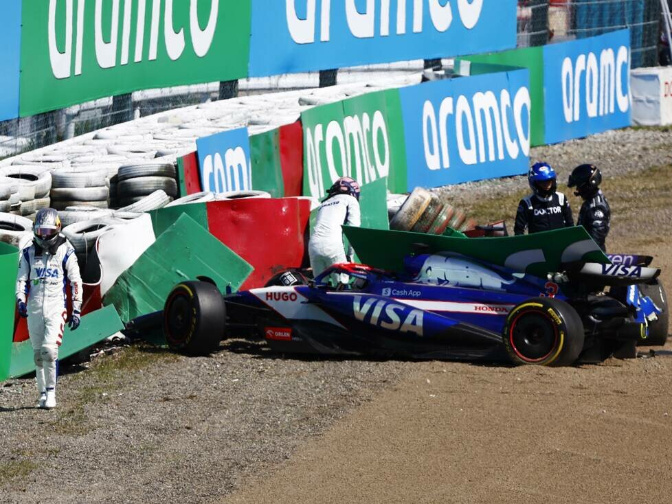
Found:
[[[204,191],[249,191],[251,162],[247,128],[223,131],[196,141]]]

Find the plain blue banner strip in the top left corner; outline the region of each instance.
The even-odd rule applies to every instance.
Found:
[[[19,117],[21,0],[0,5],[0,121]]]

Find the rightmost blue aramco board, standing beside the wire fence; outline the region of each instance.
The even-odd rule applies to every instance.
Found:
[[[630,31],[544,47],[546,144],[631,124]]]

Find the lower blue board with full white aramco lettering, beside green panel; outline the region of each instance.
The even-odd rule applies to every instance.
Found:
[[[525,173],[529,86],[520,69],[400,89],[408,187]]]

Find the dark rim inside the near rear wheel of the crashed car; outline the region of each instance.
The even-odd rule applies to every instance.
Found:
[[[508,341],[518,358],[527,363],[540,363],[557,353],[559,333],[548,314],[526,311],[519,313],[511,323]]]

